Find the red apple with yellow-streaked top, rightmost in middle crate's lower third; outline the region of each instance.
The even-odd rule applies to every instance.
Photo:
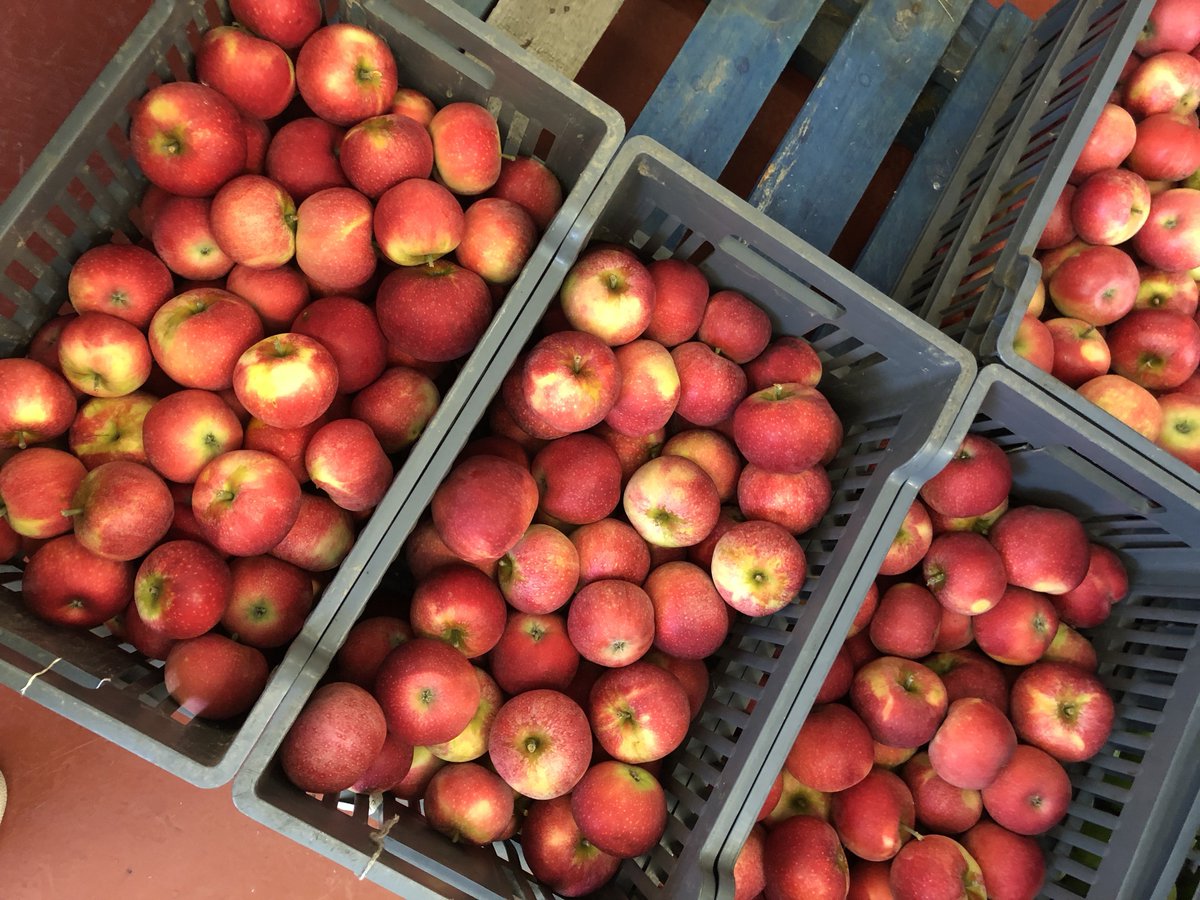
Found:
[[[689,719],[679,679],[650,662],[610,668],[592,686],[592,730],[605,752],[622,762],[661,760],[683,743]]]

